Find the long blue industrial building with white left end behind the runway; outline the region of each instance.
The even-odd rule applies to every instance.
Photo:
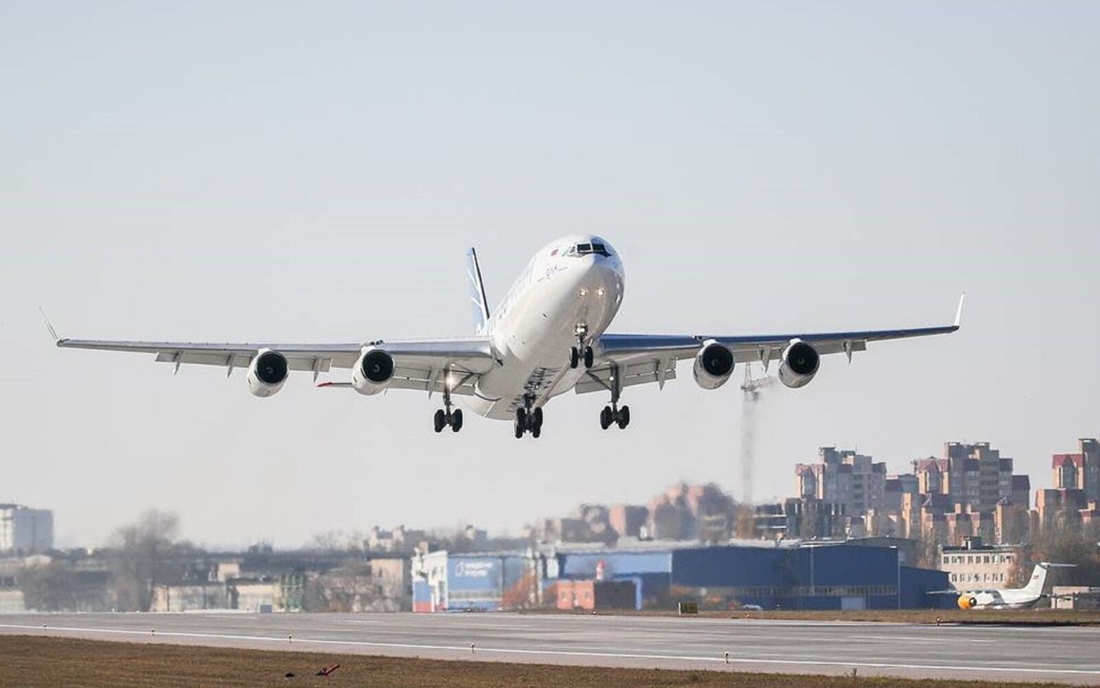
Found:
[[[414,563],[417,571],[417,563]],[[947,574],[906,566],[902,548],[857,544],[553,549],[515,554],[432,553],[415,580],[417,611],[499,610],[542,601],[558,580],[630,580],[636,607],[701,599],[719,608],[923,609],[943,602]],[[543,601],[544,603],[544,601]]]

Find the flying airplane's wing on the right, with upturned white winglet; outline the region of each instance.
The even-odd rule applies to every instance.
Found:
[[[965,295],[964,295],[965,297]],[[597,363],[576,384],[576,392],[597,392],[646,382],[662,385],[675,378],[676,361],[695,358],[708,343],[718,343],[733,353],[734,362],[758,362],[767,369],[779,360],[792,341],[813,346],[820,354],[845,353],[849,360],[856,351],[867,349],[870,341],[908,339],[930,335],[947,335],[959,329],[963,301],[959,298],[952,325],[908,329],[855,330],[846,332],[790,332],[783,335],[603,335],[595,347]]]

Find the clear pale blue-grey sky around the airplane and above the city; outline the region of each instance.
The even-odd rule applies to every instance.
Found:
[[[63,336],[468,334],[550,239],[626,264],[614,329],[933,325],[765,400],[754,493],[821,445],[891,470],[990,440],[1049,484],[1100,435],[1094,2],[0,6],[0,501],[63,545],[141,510],[207,545],[498,532],[676,480],[740,491],[740,392],[557,398],[543,436],[438,400],[56,350]],[[735,373],[739,379],[740,372]],[[339,373],[338,378],[339,379]]]

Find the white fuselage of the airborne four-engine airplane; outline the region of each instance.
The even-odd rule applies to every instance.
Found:
[[[578,254],[575,247],[583,244],[601,244],[606,255]],[[591,343],[607,329],[623,302],[624,281],[622,260],[600,237],[563,237],[541,249],[486,325],[499,364],[481,375],[475,396],[461,402],[507,419],[517,407],[540,407],[571,390],[585,368],[570,367],[570,347]]]

